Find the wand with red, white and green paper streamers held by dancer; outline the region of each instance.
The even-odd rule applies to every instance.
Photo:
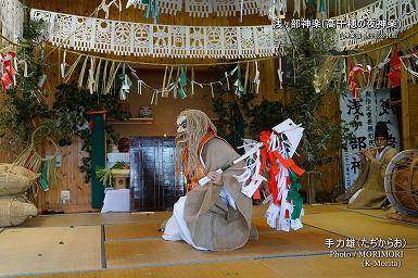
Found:
[[[302,139],[304,128],[291,119],[275,126],[271,131],[263,131],[261,142],[244,140],[245,154],[230,165],[245,161],[245,172],[237,176],[242,184],[241,192],[249,198],[259,199],[259,186],[268,180],[270,195],[265,200],[269,203],[266,212],[267,224],[275,229],[289,231],[302,228],[303,199],[299,193],[302,188],[299,177],[304,174],[292,160]],[[268,168],[268,179],[263,176]],[[199,180],[204,186],[210,180],[205,177]]]

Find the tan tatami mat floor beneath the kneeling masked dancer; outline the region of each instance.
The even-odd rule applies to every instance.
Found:
[[[265,223],[266,207],[254,206],[253,223],[259,239],[231,252],[201,252],[183,242],[164,241],[157,229],[170,213],[39,216],[20,227],[0,230],[0,277],[417,275],[418,225],[389,219],[379,210],[349,210],[335,204],[304,207],[304,228],[279,232]],[[402,257],[381,257],[382,253],[375,253],[378,257],[362,257],[366,254],[363,251],[381,251],[381,247],[347,247],[343,242],[349,238],[384,240],[383,248],[398,239],[406,245],[390,253]],[[326,242],[334,245],[329,248]],[[352,257],[331,257],[335,254]],[[367,266],[365,261],[371,265]]]

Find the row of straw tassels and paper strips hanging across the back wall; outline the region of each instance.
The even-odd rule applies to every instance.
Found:
[[[173,97],[180,97],[181,99],[186,99],[187,94],[187,85],[190,83],[191,85],[191,94],[194,94],[194,86],[198,85],[202,89],[204,86],[211,87],[211,93],[214,98],[215,96],[215,86],[223,86],[223,80],[226,79],[229,88],[229,80],[231,76],[240,76],[239,66],[236,66],[231,72],[225,72],[225,78],[212,81],[212,83],[198,83],[194,79],[194,70],[191,68],[191,79],[187,78],[187,66],[185,65],[166,65],[163,85],[161,88],[153,88],[150,85],[145,84],[143,80],[139,78],[129,63],[124,61],[116,60],[107,60],[105,58],[90,56],[80,54],[71,65],[66,63],[66,52],[63,53],[63,60],[60,65],[61,77],[63,78],[63,83],[68,83],[72,79],[73,74],[75,73],[75,68],[77,65],[83,63],[81,70],[78,77],[78,87],[86,87],[90,93],[101,92],[103,94],[107,94],[112,91],[115,91],[115,80],[121,81],[121,88],[118,89],[118,93],[121,100],[127,100],[128,93],[130,91],[132,81],[129,76],[134,77],[137,80],[137,92],[138,94],[142,94],[142,91],[147,89],[148,91],[152,91],[152,100],[151,104],[157,103],[159,94],[162,98],[168,98],[169,93],[173,92]],[[67,68],[67,66],[69,66]],[[249,68],[249,63],[248,63]],[[128,75],[128,72],[130,75]],[[175,74],[177,72],[177,75]],[[85,74],[86,73],[86,74]],[[254,80],[254,83],[259,83],[259,72],[258,77]],[[245,76],[249,75],[249,70],[246,70]],[[87,76],[87,77],[85,77]],[[245,77],[245,84],[246,84]],[[101,86],[101,89],[99,89]],[[235,83],[236,93],[238,96],[242,96],[245,88],[241,85],[240,78],[236,79]]]

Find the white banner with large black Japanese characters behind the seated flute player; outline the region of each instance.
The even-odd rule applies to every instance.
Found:
[[[356,152],[375,146],[375,126],[377,122],[387,122],[389,143],[400,149],[400,132],[396,115],[390,103],[390,89],[362,88],[359,99],[352,98],[350,92],[340,98],[342,124],[356,122],[350,126],[354,137],[342,152],[344,187],[349,189],[359,174],[360,160]]]

